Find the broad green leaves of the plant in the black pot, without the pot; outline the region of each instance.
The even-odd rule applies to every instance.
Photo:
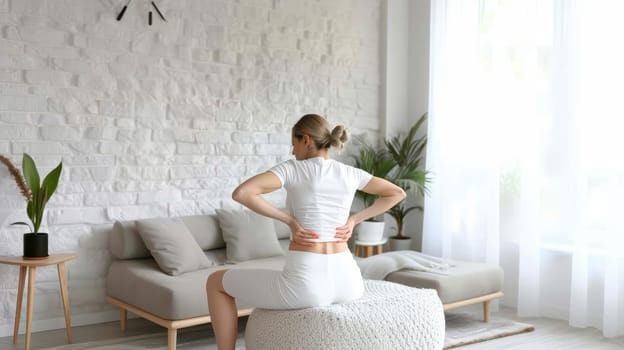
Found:
[[[63,163],[60,162],[56,168],[46,175],[43,182],[41,182],[35,161],[27,153],[24,153],[22,159],[22,172],[24,176],[19,173],[8,158],[0,156],[0,162],[7,166],[9,173],[13,176],[17,186],[20,188],[22,195],[26,198],[26,214],[32,223],[32,227],[28,223],[22,221],[14,222],[11,225],[28,226],[32,233],[38,233],[41,222],[43,221],[45,206],[58,186]]]

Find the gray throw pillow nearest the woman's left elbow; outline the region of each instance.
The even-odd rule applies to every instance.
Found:
[[[247,261],[283,255],[274,220],[251,210],[217,209],[228,260]]]

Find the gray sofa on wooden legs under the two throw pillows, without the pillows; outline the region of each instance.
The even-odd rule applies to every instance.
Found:
[[[163,272],[137,227],[149,219],[116,222],[109,237],[109,249],[114,260],[108,269],[106,301],[121,309],[123,330],[126,327],[127,311],[166,327],[169,350],[176,348],[179,328],[210,322],[205,285],[212,272],[250,267],[281,270],[284,264],[283,255],[229,263],[216,214],[179,219],[206,257],[214,262],[213,266],[178,275]],[[289,241],[288,227],[279,222],[274,222],[274,225],[275,238],[285,252]],[[239,316],[248,315],[252,311],[248,305],[238,307]]]

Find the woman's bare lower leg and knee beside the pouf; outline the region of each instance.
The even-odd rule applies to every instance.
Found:
[[[206,282],[208,310],[219,350],[233,350],[238,334],[236,301],[223,288],[223,275],[226,271],[220,270],[212,273]]]

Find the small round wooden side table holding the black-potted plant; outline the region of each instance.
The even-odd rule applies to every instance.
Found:
[[[26,304],[26,350],[30,350],[30,325],[32,322],[32,305],[35,291],[35,272],[37,267],[56,265],[61,285],[61,298],[65,311],[65,328],[67,329],[67,342],[71,344],[71,318],[69,315],[69,295],[67,292],[67,275],[65,262],[78,258],[77,254],[50,254],[43,259],[24,259],[21,256],[0,257],[0,264],[18,265],[20,267],[20,280],[17,287],[17,306],[15,308],[15,326],[13,328],[13,344],[17,344],[19,333],[19,321],[22,311],[22,299],[24,296],[24,284],[26,282],[26,270],[28,270],[28,301]]]

